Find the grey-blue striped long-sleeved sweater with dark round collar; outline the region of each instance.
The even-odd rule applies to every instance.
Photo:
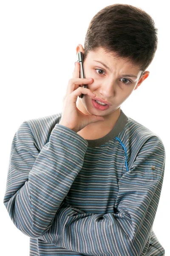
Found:
[[[121,109],[104,137],[24,121],[11,144],[4,205],[30,256],[164,256],[153,232],[164,178],[161,138]]]

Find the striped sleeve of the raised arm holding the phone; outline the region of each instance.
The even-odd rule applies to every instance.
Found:
[[[87,146],[76,132],[56,124],[39,150],[28,122],[20,125],[11,144],[3,203],[21,232],[37,238],[51,227],[82,168]]]

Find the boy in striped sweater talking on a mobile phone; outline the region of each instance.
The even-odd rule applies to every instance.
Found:
[[[120,108],[149,76],[156,32],[137,7],[99,11],[77,47],[86,79],[77,62],[62,113],[27,120],[14,135],[4,204],[31,256],[164,255],[152,227],[165,148]]]

